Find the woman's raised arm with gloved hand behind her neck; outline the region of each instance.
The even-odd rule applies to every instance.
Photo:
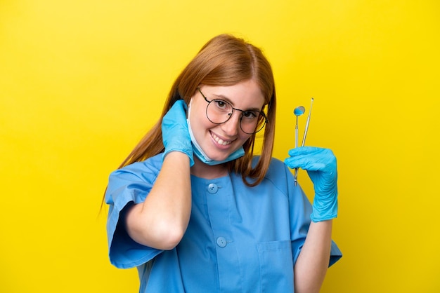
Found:
[[[185,109],[183,100],[178,100],[164,116],[162,169],[145,201],[129,207],[125,218],[133,240],[160,250],[179,244],[190,218],[194,162]]]

